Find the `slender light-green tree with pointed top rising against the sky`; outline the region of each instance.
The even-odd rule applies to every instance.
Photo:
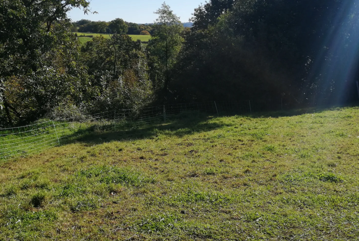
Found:
[[[183,25],[180,18],[165,3],[154,13],[158,14],[159,17],[153,26],[155,31],[148,45],[151,79],[154,82],[155,89],[157,91],[162,89],[163,94],[165,94],[172,78],[173,66],[183,43],[181,37]]]

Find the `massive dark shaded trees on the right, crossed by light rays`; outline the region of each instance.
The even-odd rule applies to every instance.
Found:
[[[357,16],[354,1],[212,0],[195,11],[172,92],[293,105],[308,94],[326,103],[353,96]]]

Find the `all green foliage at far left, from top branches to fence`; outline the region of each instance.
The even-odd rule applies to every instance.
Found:
[[[36,120],[61,97],[80,94],[86,77],[66,13],[87,13],[88,6],[85,0],[1,1],[0,103],[10,125]]]

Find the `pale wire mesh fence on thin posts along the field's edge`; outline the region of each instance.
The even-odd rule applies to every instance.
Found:
[[[0,129],[0,162],[25,157],[76,140],[86,131],[117,131],[207,113],[229,115],[251,112],[249,101],[209,101],[111,110],[92,115],[86,123],[73,119],[49,120],[16,128]]]

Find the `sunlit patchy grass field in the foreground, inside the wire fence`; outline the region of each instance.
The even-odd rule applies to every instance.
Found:
[[[359,108],[98,132],[0,164],[0,240],[358,240]]]

